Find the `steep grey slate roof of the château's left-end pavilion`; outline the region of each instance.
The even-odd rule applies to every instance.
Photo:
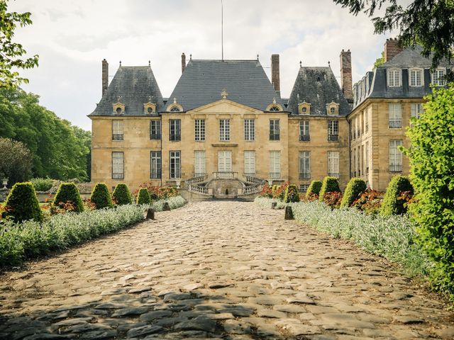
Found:
[[[143,110],[143,104],[148,101],[156,103],[157,112],[164,108],[162,94],[150,66],[119,67],[101,101],[89,115],[114,115],[112,105],[118,102],[118,98],[126,106],[122,116],[149,115]]]

